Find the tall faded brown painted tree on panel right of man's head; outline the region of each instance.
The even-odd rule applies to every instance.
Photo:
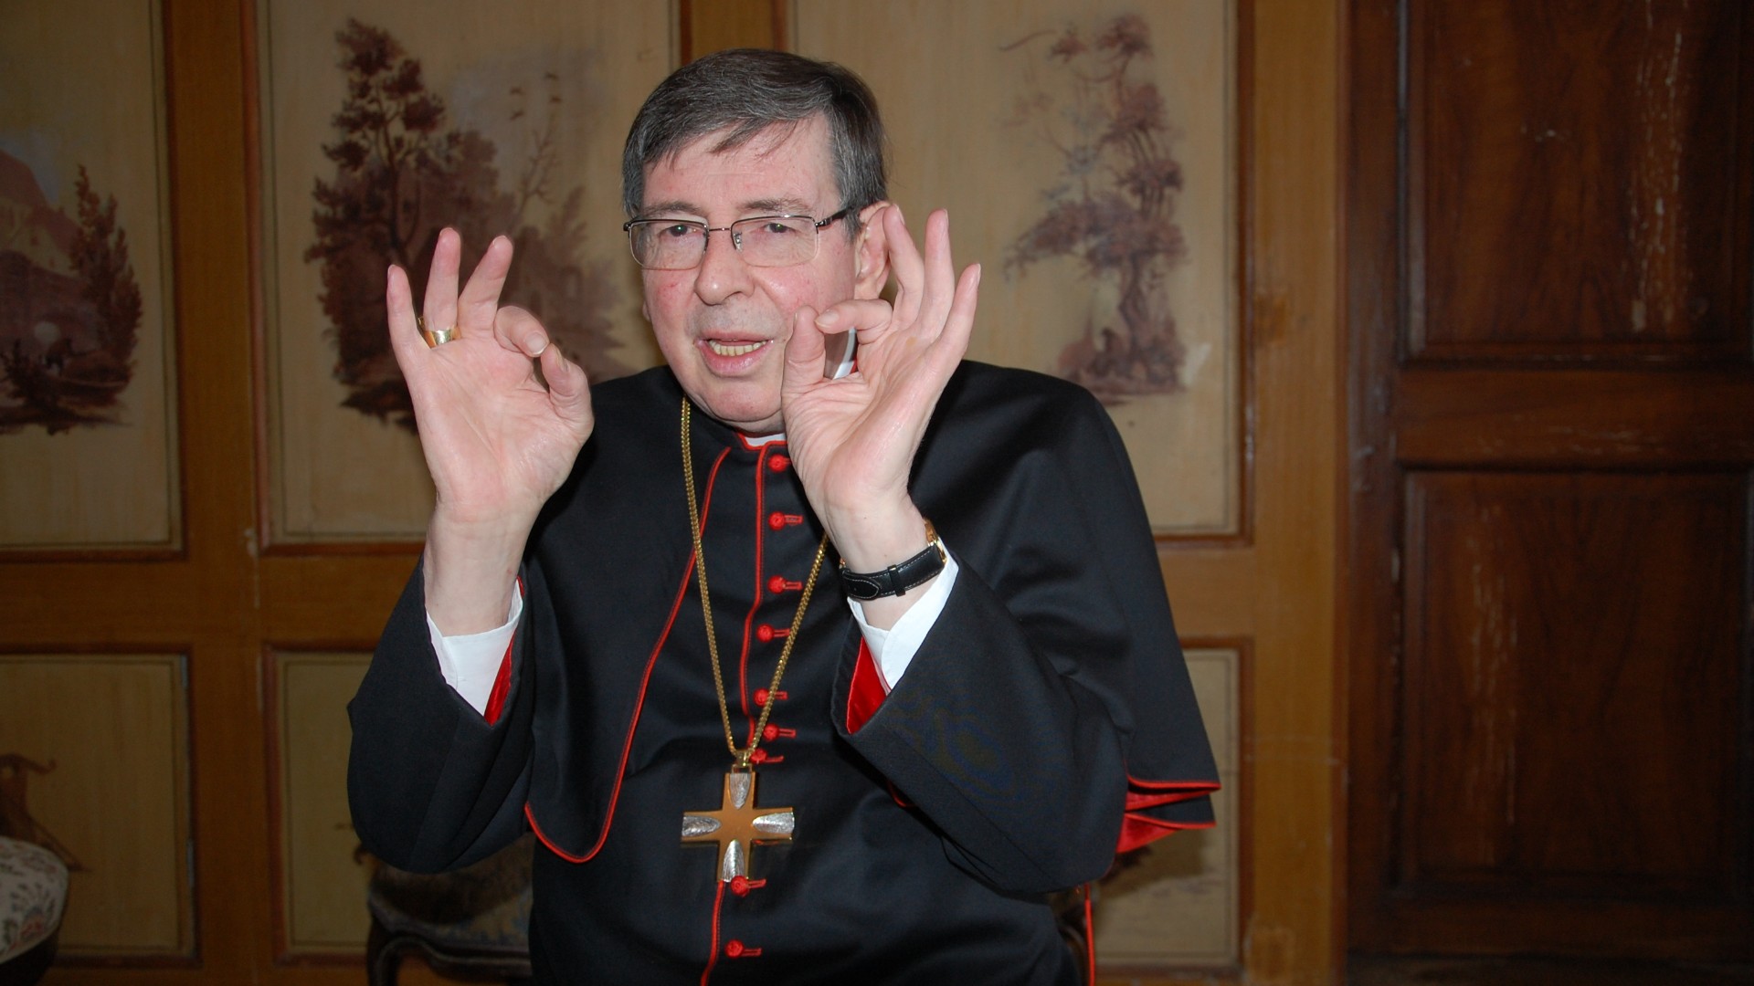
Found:
[[[1170,153],[1175,130],[1163,95],[1145,72],[1151,32],[1137,14],[1109,21],[1094,40],[1077,26],[1030,35],[1009,49],[1047,40],[1049,93],[1031,70],[1019,123],[1035,125],[1063,160],[1061,181],[1044,191],[1047,211],[1012,244],[1007,267],[1077,258],[1091,279],[1117,286],[1119,325],[1086,326],[1066,346],[1059,370],[1103,400],[1180,388],[1184,347],[1165,279],[1186,258],[1175,225],[1182,168]]]

